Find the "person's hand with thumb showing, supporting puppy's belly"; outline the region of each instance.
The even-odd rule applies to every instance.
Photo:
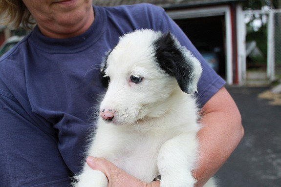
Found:
[[[147,184],[124,170],[118,168],[105,158],[88,157],[86,160],[92,169],[103,172],[108,178],[108,187],[159,187],[159,181]]]

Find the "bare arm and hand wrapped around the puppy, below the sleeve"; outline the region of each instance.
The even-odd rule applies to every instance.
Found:
[[[202,187],[231,155],[243,136],[237,105],[222,87],[203,107],[199,131],[199,165],[194,171],[196,187]],[[89,157],[87,164],[106,174],[108,187],[159,187],[159,182],[146,184],[103,158]]]

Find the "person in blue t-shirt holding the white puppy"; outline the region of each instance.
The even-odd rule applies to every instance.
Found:
[[[99,64],[118,37],[135,29],[171,31],[202,63],[198,105],[204,125],[194,170],[202,187],[243,136],[238,108],[225,82],[181,29],[151,4],[100,7],[91,0],[1,0],[1,18],[15,27],[36,26],[0,58],[0,185],[66,187],[81,170],[91,108],[103,92]],[[109,187],[146,184],[103,158],[88,157]]]

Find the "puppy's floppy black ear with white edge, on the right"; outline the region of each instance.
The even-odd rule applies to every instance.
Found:
[[[202,67],[191,52],[181,46],[170,32],[162,34],[153,45],[160,67],[176,78],[181,90],[188,94],[197,92]]]

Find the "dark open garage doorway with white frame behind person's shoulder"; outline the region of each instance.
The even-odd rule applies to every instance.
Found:
[[[189,37],[204,58],[216,57],[216,72],[225,78],[225,16],[174,20]],[[205,58],[205,59],[206,59]]]

